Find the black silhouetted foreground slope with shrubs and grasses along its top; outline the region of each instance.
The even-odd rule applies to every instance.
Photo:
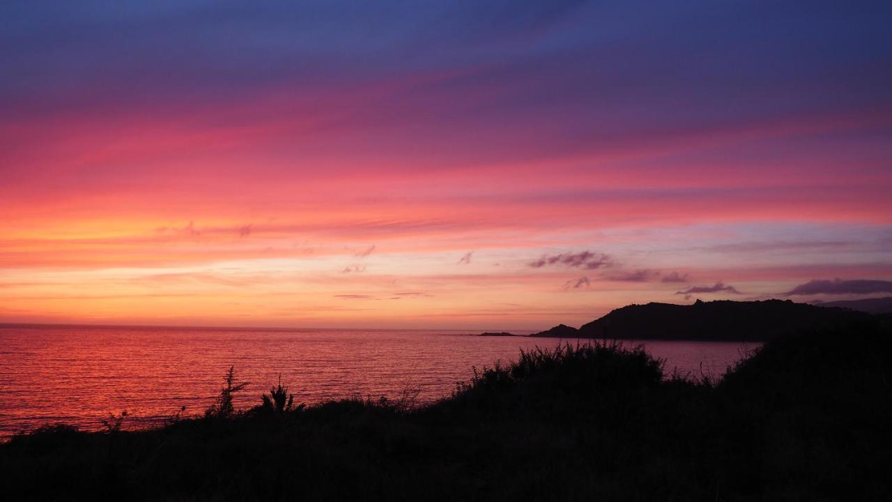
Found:
[[[235,392],[260,391],[230,372],[201,417],[13,437],[0,444],[0,490],[6,500],[890,500],[890,384],[884,318],[778,336],[721,381],[666,378],[621,342],[542,348],[475,371],[428,406],[411,392],[303,406],[280,382],[236,410]]]

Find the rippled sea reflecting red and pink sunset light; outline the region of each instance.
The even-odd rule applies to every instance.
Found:
[[[472,366],[558,343],[467,331],[0,327],[0,437],[58,422],[101,428],[102,418],[122,410],[130,428],[159,423],[180,406],[200,414],[230,365],[239,381],[251,382],[236,407],[259,404],[279,373],[305,403],[394,397],[407,387],[420,388],[420,400],[434,400],[467,380]],[[756,347],[643,343],[665,359],[667,373],[678,368],[713,376]]]

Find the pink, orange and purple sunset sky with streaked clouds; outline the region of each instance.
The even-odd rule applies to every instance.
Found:
[[[892,296],[892,3],[0,4],[0,322]]]

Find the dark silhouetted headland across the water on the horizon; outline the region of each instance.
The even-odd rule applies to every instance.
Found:
[[[583,324],[575,332],[562,324],[535,336],[764,341],[796,330],[832,328],[869,318],[869,314],[862,312],[797,304],[789,300],[698,300],[693,305],[627,305]]]

